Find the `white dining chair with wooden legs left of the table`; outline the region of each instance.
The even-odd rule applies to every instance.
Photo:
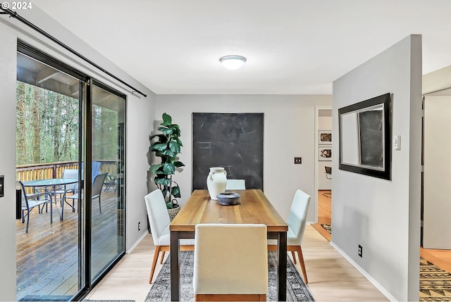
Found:
[[[154,277],[159,253],[163,253],[160,261],[160,263],[163,263],[164,253],[166,251],[171,251],[171,233],[169,232],[171,220],[169,218],[168,209],[166,208],[163,193],[160,189],[156,189],[144,196],[144,201],[146,203],[147,215],[149,216],[150,232],[152,233],[152,239],[154,239],[155,246],[154,260],[152,261],[149,277],[150,284]],[[192,250],[194,250],[193,239],[180,240],[180,251]]]

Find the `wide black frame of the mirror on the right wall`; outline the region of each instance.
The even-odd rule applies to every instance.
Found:
[[[352,164],[343,163],[343,153],[342,153],[342,133],[347,131],[343,129],[342,125],[342,115],[349,113],[361,113],[365,112],[365,108],[371,108],[374,106],[383,105],[383,168],[376,168],[370,165],[362,165],[362,163]],[[357,122],[356,127],[358,127],[359,122]],[[354,103],[350,106],[342,107],[338,109],[338,128],[339,128],[339,161],[338,168],[340,170],[355,172],[363,175],[369,175],[372,177],[382,178],[384,180],[391,180],[391,165],[392,165],[392,153],[391,153],[391,98],[390,94],[382,94],[381,96],[376,96],[372,99],[367,99],[359,103]],[[359,129],[357,129],[359,134]],[[359,140],[359,138],[357,138]],[[360,141],[357,143],[357,147],[360,151]]]

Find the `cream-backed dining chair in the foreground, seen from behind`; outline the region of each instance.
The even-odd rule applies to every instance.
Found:
[[[194,234],[194,301],[266,301],[266,225],[199,224]]]

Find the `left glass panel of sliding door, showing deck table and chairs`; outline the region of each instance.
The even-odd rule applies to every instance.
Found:
[[[81,87],[75,77],[18,53],[16,180],[28,194],[16,220],[18,301],[68,301],[85,286],[78,199],[63,201],[80,183]],[[50,203],[30,208],[46,196]]]

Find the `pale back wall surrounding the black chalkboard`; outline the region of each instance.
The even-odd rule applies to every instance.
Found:
[[[331,105],[329,95],[158,95],[156,117],[164,112],[180,125],[183,172],[175,175],[183,204],[192,187],[192,113],[264,113],[264,191],[282,217],[296,189],[315,196],[315,106]],[[302,165],[295,165],[295,156]],[[206,179],[205,175],[205,179]],[[314,221],[315,203],[309,208]]]

